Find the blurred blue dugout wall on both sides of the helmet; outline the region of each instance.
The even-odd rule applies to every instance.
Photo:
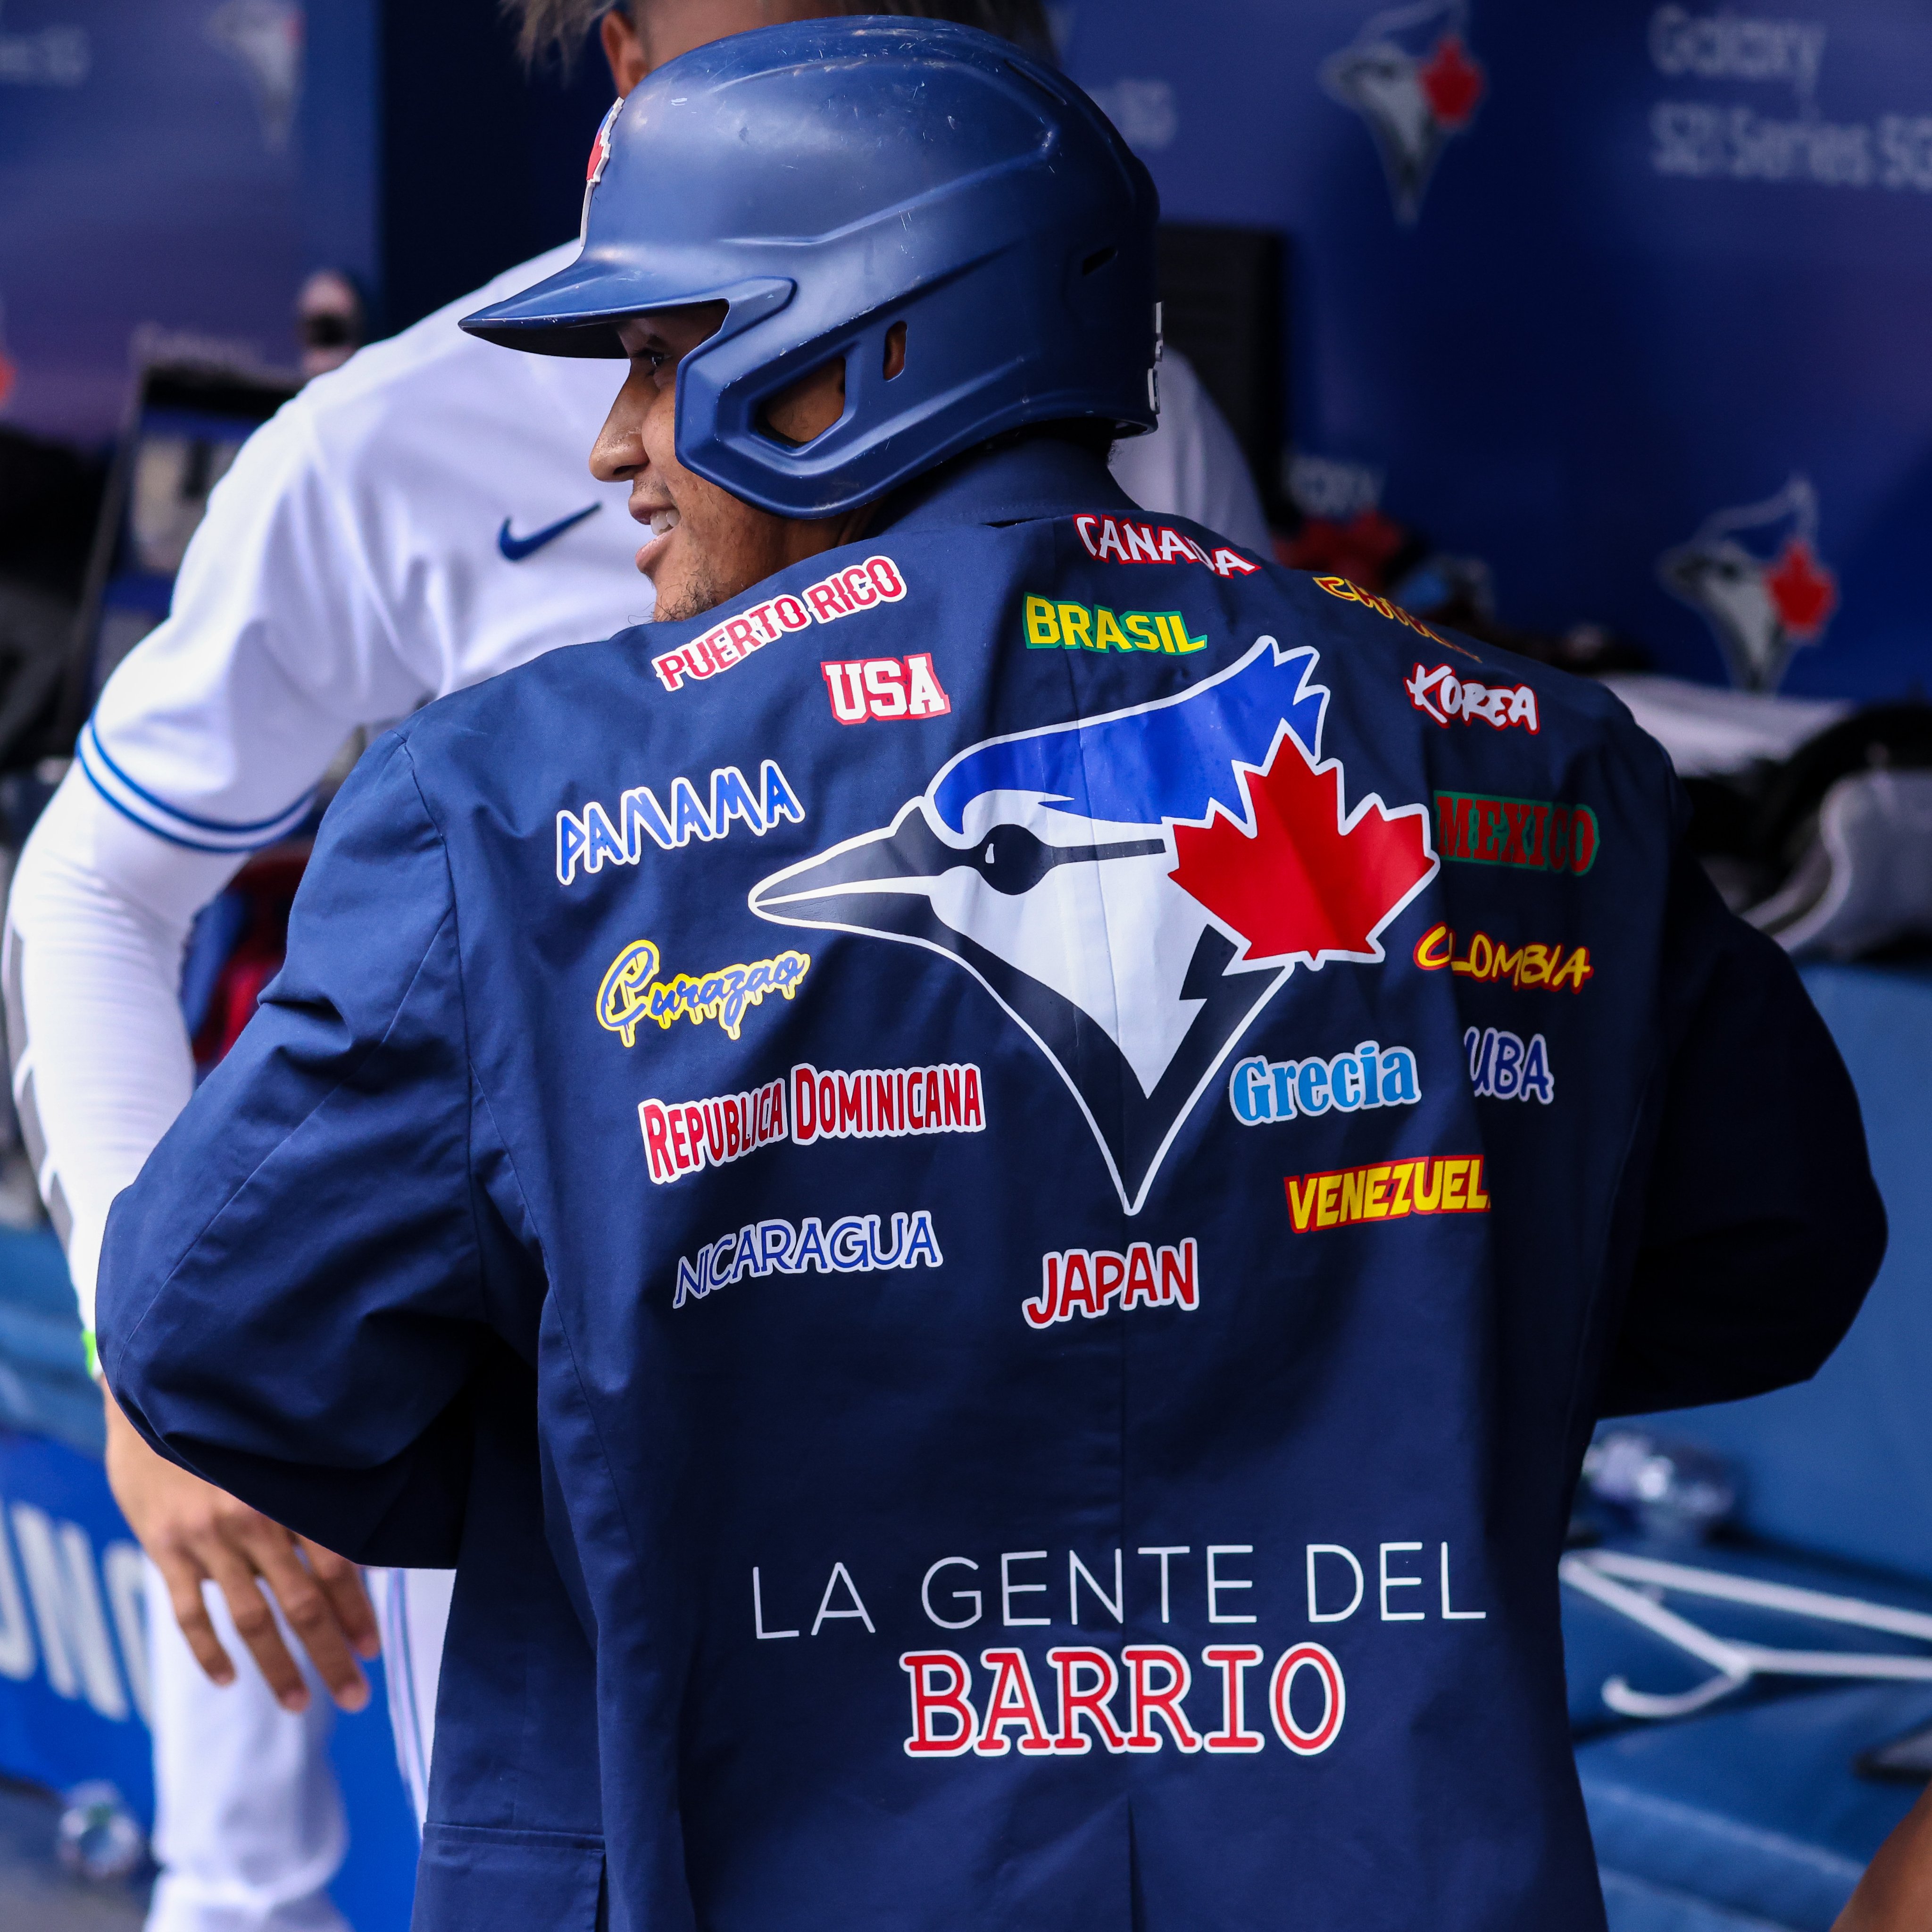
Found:
[[[1658,564],[1745,510],[1748,553],[1797,535],[1828,583],[1785,690],[1922,676],[1922,6],[1049,14],[1169,218],[1287,238],[1300,460],[1264,489],[1379,500],[1482,558],[1505,622],[1712,682]],[[607,95],[595,46],[526,81],[489,0],[6,0],[0,425],[100,444],[141,323],[288,363],[313,267],[392,328],[568,238]]]

